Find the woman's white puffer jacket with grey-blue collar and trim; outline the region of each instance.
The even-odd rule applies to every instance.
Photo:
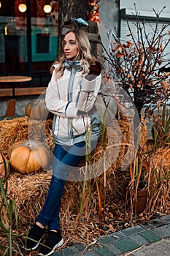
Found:
[[[85,135],[90,128],[91,140],[98,140],[100,136],[100,120],[93,105],[101,86],[101,75],[92,81],[86,80],[85,75],[82,75],[81,63],[66,61],[63,76],[59,79],[56,78],[54,69],[46,91],[47,108],[55,114],[54,140],[61,145],[86,141]],[[78,110],[85,111],[85,114],[77,115]]]

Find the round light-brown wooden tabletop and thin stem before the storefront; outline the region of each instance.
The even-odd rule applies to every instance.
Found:
[[[24,83],[31,81],[32,78],[25,75],[8,75],[0,76],[0,83],[12,83],[12,97],[15,98],[16,83]]]

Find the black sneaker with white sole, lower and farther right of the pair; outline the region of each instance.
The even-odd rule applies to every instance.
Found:
[[[56,248],[63,244],[63,238],[61,236],[61,231],[58,232],[50,231],[48,233],[47,241],[45,245],[39,249],[39,255],[48,256],[52,255]]]

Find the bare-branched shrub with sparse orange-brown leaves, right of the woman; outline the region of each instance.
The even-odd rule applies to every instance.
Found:
[[[164,9],[164,7],[163,7]],[[161,10],[161,12],[163,11]],[[140,20],[139,12],[136,11],[136,34],[132,31],[131,23],[126,20],[129,40],[121,39],[109,30],[109,53],[104,51],[104,61],[107,62],[109,69],[106,71],[110,78],[117,81],[120,88],[124,89],[134,100],[139,115],[144,105],[150,103],[153,107],[147,108],[152,113],[155,105],[161,105],[170,96],[170,83],[167,69],[161,69],[163,63],[169,64],[169,53],[166,49],[169,46],[169,26],[163,23],[159,26],[158,17],[161,12],[156,13],[155,26],[150,24],[151,32],[146,29],[146,21]],[[170,68],[170,67],[169,67]],[[161,75],[160,75],[161,73]]]

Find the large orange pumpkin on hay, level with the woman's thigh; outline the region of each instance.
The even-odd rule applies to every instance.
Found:
[[[9,149],[9,162],[19,173],[37,173],[47,170],[52,164],[53,154],[45,143],[38,140],[20,140]]]

